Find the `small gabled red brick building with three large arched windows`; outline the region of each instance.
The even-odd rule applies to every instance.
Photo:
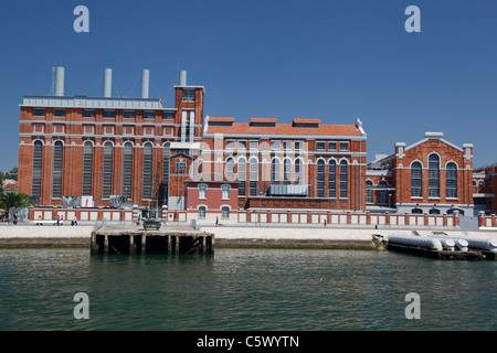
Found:
[[[369,163],[367,202],[399,213],[473,215],[473,145],[445,140],[442,132]]]

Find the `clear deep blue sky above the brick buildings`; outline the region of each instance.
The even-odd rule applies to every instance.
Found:
[[[89,33],[73,10],[89,9]],[[408,33],[404,10],[421,10]],[[441,131],[475,145],[474,165],[497,162],[497,1],[190,0],[2,1],[0,170],[18,164],[19,104],[47,95],[53,66],[65,95],[150,97],[173,106],[178,68],[205,86],[204,114],[320,118],[368,132],[368,161],[396,141]]]

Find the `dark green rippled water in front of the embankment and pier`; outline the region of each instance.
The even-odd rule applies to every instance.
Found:
[[[497,261],[389,252],[0,250],[0,330],[496,330]],[[76,292],[89,319],[76,320]],[[421,319],[404,315],[421,297]]]

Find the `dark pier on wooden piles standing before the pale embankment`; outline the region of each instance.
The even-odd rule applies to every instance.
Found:
[[[188,227],[145,231],[108,226],[92,232],[91,254],[214,254],[214,234]]]

